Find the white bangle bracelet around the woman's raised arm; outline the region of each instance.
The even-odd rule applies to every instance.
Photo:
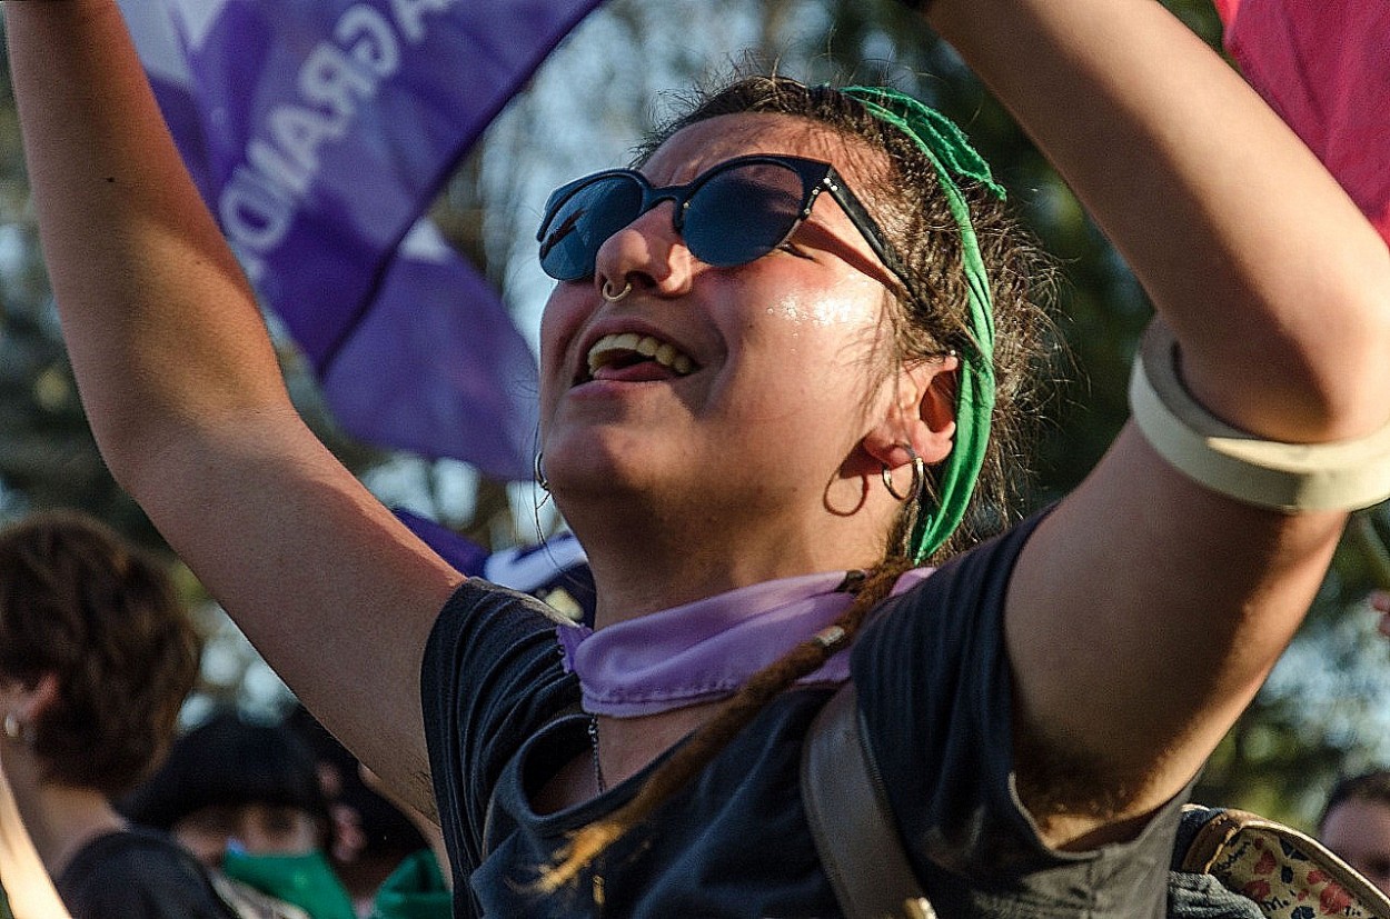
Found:
[[[1261,440],[1213,416],[1177,378],[1177,340],[1155,321],[1130,373],[1130,411],[1175,469],[1218,494],[1286,512],[1355,511],[1390,498],[1390,425],[1319,444]]]

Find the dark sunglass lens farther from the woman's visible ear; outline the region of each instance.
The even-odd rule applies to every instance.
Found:
[[[637,219],[641,207],[642,189],[630,176],[610,175],[581,186],[546,221],[541,268],[556,280],[588,278],[599,247]]]

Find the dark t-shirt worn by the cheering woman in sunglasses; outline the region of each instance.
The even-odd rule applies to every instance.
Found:
[[[1162,916],[1180,801],[1133,843],[1062,854],[1037,838],[1013,793],[1002,608],[1033,525],[883,604],[851,668],[869,743],[942,919]],[[566,833],[630,800],[651,768],[577,807],[531,811],[531,795],[589,748],[587,719],[562,714],[578,686],[562,671],[553,621],[492,584],[468,582],[446,604],[421,689],[456,916],[841,915],[799,787],[802,740],[830,689],[784,693],[646,826],[550,895],[535,880]]]

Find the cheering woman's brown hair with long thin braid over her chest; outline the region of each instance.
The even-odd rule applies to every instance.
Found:
[[[848,143],[887,154],[890,165],[885,174],[867,187],[856,186],[855,192],[874,211],[874,218],[916,282],[916,296],[897,292],[895,308],[888,311],[897,360],[940,355],[949,348],[973,350],[966,315],[966,278],[960,269],[960,233],[934,167],[910,137],[833,87],[806,86],[785,76],[744,78],[714,93],[696,90],[687,100],[687,114],[657,129],[639,149],[638,164],[682,128],[719,115],[745,112],[801,118],[830,129]],[[984,468],[965,522],[931,555],[931,564],[997,533],[1013,519],[1013,508],[1027,478],[1022,458],[1027,453],[1031,422],[1038,416],[1038,383],[1049,362],[1054,329],[1040,296],[1051,289],[1055,278],[1052,264],[1031,236],[1006,214],[992,192],[972,183],[962,185],[960,190],[970,208],[994,301],[997,391]],[[924,486],[930,491],[931,482]],[[680,791],[769,701],[853,641],[867,614],[891,593],[898,576],[910,566],[902,537],[913,511],[905,507],[899,514],[894,530],[887,534],[883,561],[867,573],[853,604],[835,622],[840,629],[835,639],[808,640],[755,673],[689,741],[653,770],[631,801],[573,836],[563,854],[564,861],[543,872],[539,882],[542,890],[556,890],[574,880],[607,845]]]

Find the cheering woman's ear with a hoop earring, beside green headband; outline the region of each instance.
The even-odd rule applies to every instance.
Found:
[[[863,439],[865,451],[898,469],[912,462],[912,450],[927,465],[941,462],[955,443],[960,358],[955,354],[903,366],[883,421]]]

